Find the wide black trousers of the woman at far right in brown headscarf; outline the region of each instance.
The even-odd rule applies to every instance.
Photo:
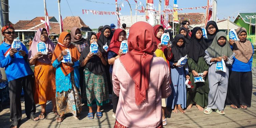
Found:
[[[238,108],[240,108],[240,105],[251,107],[252,88],[252,71],[229,71],[226,104],[234,104]]]

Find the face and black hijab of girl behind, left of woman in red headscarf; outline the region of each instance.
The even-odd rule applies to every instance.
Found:
[[[108,44],[109,46],[112,37],[113,37],[113,32],[111,30],[111,27],[109,25],[105,25],[100,33],[100,37],[98,41],[99,46],[103,47],[103,45],[105,44]]]

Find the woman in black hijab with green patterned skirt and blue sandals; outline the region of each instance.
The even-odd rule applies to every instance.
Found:
[[[101,46],[99,46],[97,54],[90,52],[90,44],[94,41],[98,43],[97,35],[95,33],[89,34],[88,46],[85,47],[80,56],[80,66],[85,66],[82,98],[87,100],[89,119],[94,118],[93,103],[96,102],[97,104],[96,117],[101,118],[102,112],[100,108],[104,103],[109,102],[109,90],[104,68],[107,65],[107,61],[105,55],[102,54],[104,49]]]

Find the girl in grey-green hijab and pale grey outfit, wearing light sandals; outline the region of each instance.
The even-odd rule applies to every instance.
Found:
[[[213,109],[224,115],[225,112],[225,100],[227,96],[228,88],[228,66],[232,65],[234,53],[232,52],[225,32],[218,32],[213,39],[212,44],[205,50],[205,61],[209,66],[209,95],[208,95],[208,106],[203,111],[204,114],[211,114]],[[224,59],[226,65],[226,72],[216,71],[216,63]]]

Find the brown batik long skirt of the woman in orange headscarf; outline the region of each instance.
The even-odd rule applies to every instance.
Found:
[[[58,114],[72,113],[77,116],[82,111],[81,94],[75,86],[74,71],[71,72],[72,88],[68,91],[57,92],[56,106]]]

